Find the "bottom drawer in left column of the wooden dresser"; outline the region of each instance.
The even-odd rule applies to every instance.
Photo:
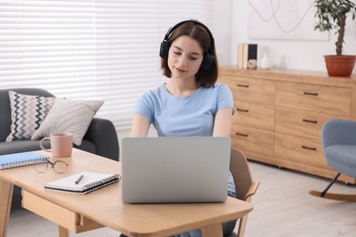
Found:
[[[248,129],[233,125],[232,147],[262,155],[273,156],[273,132],[259,129]]]

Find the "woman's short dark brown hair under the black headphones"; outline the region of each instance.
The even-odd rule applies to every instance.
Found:
[[[190,36],[194,40],[198,41],[200,46],[203,48],[204,57],[208,54],[208,50],[211,48],[212,42],[210,34],[207,32],[207,29],[202,26],[197,21],[187,21],[181,26],[178,26],[174,29],[173,33],[168,39],[169,46],[172,46],[173,41],[179,36]],[[166,77],[171,77],[172,72],[168,67],[167,59],[161,59],[161,68],[162,74]],[[211,67],[208,70],[204,70],[202,67],[199,68],[199,71],[195,74],[195,81],[198,87],[211,88],[214,87],[218,77],[218,65],[216,59],[216,52],[214,46],[214,61]]]

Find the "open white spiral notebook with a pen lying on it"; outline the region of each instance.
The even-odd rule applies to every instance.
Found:
[[[82,171],[66,178],[48,182],[45,189],[52,191],[65,191],[76,194],[87,194],[104,188],[121,180],[120,174],[106,174]]]

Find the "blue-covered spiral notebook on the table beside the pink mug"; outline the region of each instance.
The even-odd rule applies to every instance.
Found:
[[[0,170],[32,165],[35,162],[47,159],[49,159],[49,157],[38,155],[37,153],[30,151],[1,155]]]

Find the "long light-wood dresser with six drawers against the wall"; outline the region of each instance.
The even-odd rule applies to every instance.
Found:
[[[233,92],[232,146],[247,159],[335,176],[323,158],[321,126],[330,118],[356,120],[356,76],[221,67],[219,82]],[[346,176],[340,180],[356,183]]]

